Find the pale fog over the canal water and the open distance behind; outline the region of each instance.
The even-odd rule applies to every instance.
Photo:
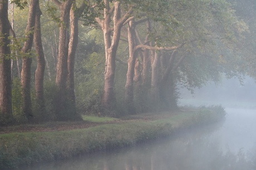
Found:
[[[256,107],[253,79],[209,84],[191,95],[181,92],[180,106],[225,106],[224,121],[177,133],[169,138],[121,150],[93,153],[25,169],[106,170],[253,170],[256,169]]]

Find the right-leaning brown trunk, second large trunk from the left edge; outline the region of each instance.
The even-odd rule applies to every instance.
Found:
[[[26,28],[26,42],[24,42],[22,53],[23,53],[23,63],[21,71],[21,84],[22,84],[22,112],[26,115],[28,121],[33,119],[32,109],[31,109],[31,48],[33,44],[35,20],[36,20],[36,9],[38,0],[31,0],[29,4],[29,13],[28,13],[28,23]]]

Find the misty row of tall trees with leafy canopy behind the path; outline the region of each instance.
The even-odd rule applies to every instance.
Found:
[[[0,0],[0,126],[178,109],[256,78],[254,0]]]

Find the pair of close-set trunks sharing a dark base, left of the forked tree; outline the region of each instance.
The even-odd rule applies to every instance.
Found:
[[[80,8],[75,1],[53,0],[60,8],[60,38],[57,56],[55,113],[57,120],[81,120],[76,112],[74,65],[78,44],[78,19],[83,15],[87,24],[94,23],[97,12],[91,4],[82,2]],[[99,6],[101,6],[100,1]],[[73,7],[72,7],[73,5]],[[92,12],[93,11],[93,12]],[[70,29],[70,32],[69,32]]]

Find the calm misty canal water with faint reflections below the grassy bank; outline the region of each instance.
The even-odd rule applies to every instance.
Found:
[[[256,110],[226,109],[225,122],[112,152],[25,169],[256,169]]]

